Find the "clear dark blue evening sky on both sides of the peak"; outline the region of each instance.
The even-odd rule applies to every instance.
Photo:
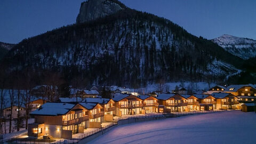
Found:
[[[0,42],[18,43],[75,23],[85,0],[1,0]],[[222,34],[256,39],[254,0],[121,0],[132,9],[169,19],[208,39]]]

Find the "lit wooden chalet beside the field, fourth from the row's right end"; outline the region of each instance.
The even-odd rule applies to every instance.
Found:
[[[187,99],[182,97],[180,94],[160,94],[157,97],[159,105],[165,106],[165,112],[181,112],[188,111],[187,108]]]

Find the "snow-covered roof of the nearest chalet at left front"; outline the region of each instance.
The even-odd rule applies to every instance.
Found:
[[[50,115],[50,116],[58,116],[65,115],[68,113],[70,109],[72,109],[75,105],[70,103],[55,103],[55,102],[47,102],[41,106],[41,108],[32,111],[31,115]]]

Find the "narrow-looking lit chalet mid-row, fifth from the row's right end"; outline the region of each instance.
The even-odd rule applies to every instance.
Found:
[[[145,110],[145,114],[158,113],[159,103],[155,97],[150,95],[138,95],[138,98],[143,100],[143,109]]]

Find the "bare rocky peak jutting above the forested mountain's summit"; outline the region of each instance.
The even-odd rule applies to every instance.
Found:
[[[88,0],[81,4],[76,22],[83,23],[93,21],[125,8],[126,6],[117,0]]]

